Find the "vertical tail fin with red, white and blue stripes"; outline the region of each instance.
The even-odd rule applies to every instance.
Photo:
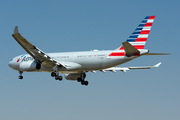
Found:
[[[136,49],[144,49],[154,18],[155,16],[146,16],[132,35],[127,39],[127,42]],[[123,46],[119,47],[118,50],[124,50]]]

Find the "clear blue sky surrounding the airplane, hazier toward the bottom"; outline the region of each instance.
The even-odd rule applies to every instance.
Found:
[[[0,120],[179,120],[178,0],[1,0]],[[121,66],[158,68],[87,73],[88,86],[56,81],[50,73],[23,73],[9,61],[25,54],[15,26],[44,52],[110,50],[121,46],[145,16],[155,15],[142,56]],[[63,75],[64,76],[64,75]]]

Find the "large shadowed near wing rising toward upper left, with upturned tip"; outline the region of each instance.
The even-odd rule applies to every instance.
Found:
[[[37,48],[35,45],[31,44],[28,40],[26,40],[21,34],[18,32],[18,27],[16,26],[14,29],[14,33],[12,34],[13,38],[24,48],[24,50],[29,53],[37,62],[42,63],[46,67],[52,67],[53,65],[59,65],[64,67],[60,62],[55,60],[54,58],[47,55],[45,52]]]

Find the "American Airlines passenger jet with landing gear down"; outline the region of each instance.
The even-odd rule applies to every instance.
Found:
[[[130,37],[115,50],[91,50],[82,52],[45,53],[26,40],[16,26],[12,37],[28,53],[14,57],[9,67],[19,71],[19,79],[23,72],[50,72],[52,77],[61,81],[59,73],[65,74],[67,80],[78,81],[87,86],[87,72],[117,70],[126,72],[133,69],[157,68],[161,64],[144,67],[115,67],[144,55],[167,55],[166,53],[149,53],[144,49],[155,16],[146,16]]]

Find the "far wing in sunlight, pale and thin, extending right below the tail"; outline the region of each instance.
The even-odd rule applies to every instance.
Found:
[[[111,71],[111,72],[116,72],[116,70],[120,70],[122,72],[126,72],[127,70],[133,70],[133,69],[151,69],[151,68],[156,68],[159,67],[159,65],[161,64],[158,63],[154,66],[144,66],[144,67],[111,67],[111,68],[107,68],[107,69],[103,69],[100,70],[101,72],[105,72],[105,71]]]

